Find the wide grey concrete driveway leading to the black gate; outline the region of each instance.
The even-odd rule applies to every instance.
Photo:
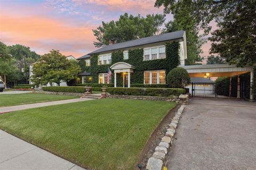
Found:
[[[183,112],[167,169],[255,169],[256,103],[193,98]]]

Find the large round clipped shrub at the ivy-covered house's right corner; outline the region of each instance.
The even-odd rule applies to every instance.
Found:
[[[176,67],[167,74],[167,84],[171,88],[184,88],[190,82],[187,70]]]

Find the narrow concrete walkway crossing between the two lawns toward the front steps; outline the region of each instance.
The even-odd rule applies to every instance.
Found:
[[[74,102],[86,101],[86,100],[94,100],[94,99],[78,98],[78,99],[47,101],[47,102],[42,102],[42,103],[0,107],[0,114],[1,113],[7,113],[7,112],[21,111],[21,110],[25,110],[25,109],[29,109],[29,108],[52,106],[52,105],[61,105],[61,104],[74,103]]]

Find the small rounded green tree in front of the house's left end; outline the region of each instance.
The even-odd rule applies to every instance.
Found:
[[[57,83],[60,86],[61,82],[75,79],[79,72],[81,69],[76,61],[68,60],[58,50],[52,50],[33,65],[31,81],[37,85]]]

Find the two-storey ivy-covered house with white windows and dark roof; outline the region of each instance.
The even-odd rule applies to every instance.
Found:
[[[115,87],[131,84],[165,84],[166,74],[184,65],[187,58],[185,31],[111,44],[77,58],[83,72],[82,83],[110,83]],[[180,62],[181,61],[181,62]]]

